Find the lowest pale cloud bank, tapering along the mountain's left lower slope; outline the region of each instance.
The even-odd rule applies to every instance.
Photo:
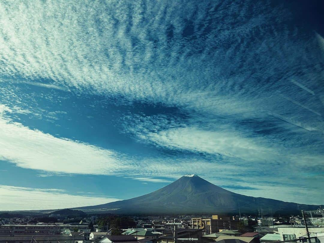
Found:
[[[71,195],[65,190],[0,185],[1,210],[61,209],[97,205],[117,198]],[[23,200],[21,200],[23,198]]]

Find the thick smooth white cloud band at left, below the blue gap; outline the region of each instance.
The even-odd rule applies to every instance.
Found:
[[[2,112],[1,112],[2,111]],[[0,159],[53,173],[113,174],[127,168],[122,155],[79,141],[56,138],[5,118],[0,106]],[[76,170],[75,168],[80,168]]]

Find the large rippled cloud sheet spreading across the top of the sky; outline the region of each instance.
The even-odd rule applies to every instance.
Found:
[[[185,7],[179,8],[182,4]],[[308,40],[298,41],[295,32],[277,29],[273,35],[263,29],[262,26],[272,22],[274,12],[285,19],[292,17],[282,6],[272,6],[269,12],[269,6],[258,4],[253,17],[247,17],[244,13],[248,9],[238,6],[234,3],[203,6],[195,1],[147,3],[145,7],[140,1],[132,4],[112,1],[107,6],[96,2],[91,7],[71,1],[2,3],[0,44],[4,48],[0,51],[0,75],[53,80],[53,84],[22,82],[58,89],[70,87],[112,97],[122,95],[131,101],[163,103],[212,114],[262,113],[273,107],[272,102],[278,102],[269,97],[273,90],[295,86],[288,81],[291,74],[280,77],[284,80],[281,86],[250,84],[256,79],[266,79],[275,69],[295,70],[298,67],[293,63],[303,57],[300,47],[306,50],[312,44]],[[209,26],[206,13],[216,7],[220,13],[239,11],[242,21],[233,23],[231,14],[215,15]],[[232,23],[230,29],[227,22]],[[170,28],[172,36],[167,34]],[[187,29],[192,29],[194,38],[186,36]],[[253,38],[255,29],[260,30],[261,40]],[[314,40],[316,36],[311,38]],[[283,40],[286,44],[282,53],[282,46],[272,43]],[[229,47],[216,48],[220,43],[228,43]],[[272,58],[264,55],[265,51],[271,52]],[[289,53],[289,61],[278,53]],[[311,54],[307,60],[303,59],[305,63],[314,62],[316,55]],[[255,55],[259,62],[254,61]],[[233,74],[229,75],[228,70],[233,70]],[[247,79],[251,82],[246,82]]]

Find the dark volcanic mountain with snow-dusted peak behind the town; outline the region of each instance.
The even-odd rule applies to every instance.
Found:
[[[316,210],[318,205],[287,203],[237,194],[218,187],[196,175],[183,176],[149,194],[96,206],[79,207],[85,212],[113,213],[243,213],[296,212]]]

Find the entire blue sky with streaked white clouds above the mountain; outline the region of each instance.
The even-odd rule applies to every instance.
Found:
[[[0,210],[128,199],[192,173],[322,204],[320,9],[1,2]]]

